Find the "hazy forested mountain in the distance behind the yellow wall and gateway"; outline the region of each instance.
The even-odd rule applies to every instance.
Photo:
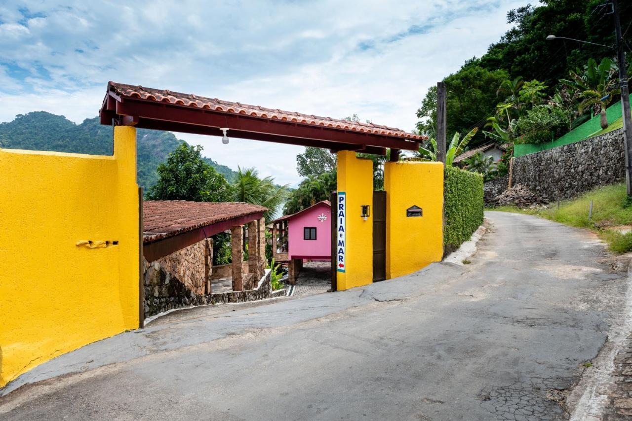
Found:
[[[176,146],[184,142],[169,131],[138,129],[138,184],[145,188],[158,180],[156,168]],[[0,123],[0,147],[11,149],[112,155],[112,127],[102,126],[99,117],[75,124],[64,116],[45,111],[19,114],[15,120]],[[235,171],[205,158],[230,182]]]

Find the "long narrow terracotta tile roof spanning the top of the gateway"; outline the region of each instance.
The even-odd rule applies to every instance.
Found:
[[[346,121],[332,119],[331,117],[314,116],[313,114],[300,114],[298,112],[284,111],[260,107],[259,105],[241,104],[240,102],[224,101],[217,98],[200,97],[192,93],[180,93],[170,90],[160,90],[155,88],[145,88],[140,85],[125,85],[124,83],[109,82],[108,90],[120,97],[140,98],[156,102],[166,102],[167,104],[183,105],[185,107],[201,108],[207,110],[218,110],[222,112],[232,112],[234,114],[246,114],[267,119],[277,119],[303,124],[313,124],[315,126],[336,127],[364,133],[382,134],[386,136],[396,136],[410,140],[423,140],[427,136],[419,136],[408,133],[401,129],[379,124],[365,123],[358,121]]]

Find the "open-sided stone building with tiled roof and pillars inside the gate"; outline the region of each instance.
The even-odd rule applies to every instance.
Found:
[[[270,297],[265,210],[249,203],[145,201],[145,317],[190,305]],[[213,266],[210,237],[226,231],[231,232],[232,263]]]

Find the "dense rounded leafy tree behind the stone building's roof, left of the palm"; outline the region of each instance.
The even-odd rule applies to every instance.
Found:
[[[223,175],[202,158],[202,146],[181,143],[158,165],[159,180],[147,193],[152,200],[225,202],[230,186]]]

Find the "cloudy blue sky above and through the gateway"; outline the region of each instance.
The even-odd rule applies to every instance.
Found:
[[[94,117],[107,81],[411,130],[429,86],[482,55],[525,0],[0,3],[0,121]],[[296,184],[301,147],[177,134]]]

